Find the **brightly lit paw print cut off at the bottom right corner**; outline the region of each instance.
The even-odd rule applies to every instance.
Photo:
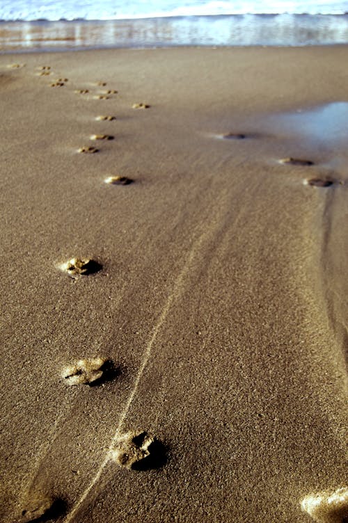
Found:
[[[317,523],[345,523],[348,518],[348,488],[306,496],[301,508]]]

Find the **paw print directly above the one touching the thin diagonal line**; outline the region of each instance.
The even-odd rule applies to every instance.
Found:
[[[96,385],[101,383],[106,369],[106,360],[103,357],[86,358],[63,369],[62,378],[68,385]]]

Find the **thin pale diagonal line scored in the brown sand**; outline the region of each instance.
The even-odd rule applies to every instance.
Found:
[[[197,242],[198,245],[202,241],[202,236],[200,236],[200,238],[198,239],[198,242]],[[125,408],[123,409],[123,411],[122,411],[122,413],[120,415],[120,419],[118,421],[118,426],[117,426],[116,431],[115,431],[115,433],[114,433],[114,435],[113,435],[113,437],[111,439],[111,442],[109,444],[109,449],[108,449],[108,451],[106,453],[106,456],[105,456],[104,460],[102,461],[102,464],[100,465],[99,469],[97,470],[97,474],[95,474],[94,478],[92,479],[92,481],[90,481],[90,483],[88,484],[88,486],[84,490],[83,494],[81,495],[80,499],[74,505],[74,507],[72,508],[71,512],[68,514],[68,516],[65,518],[65,523],[69,523],[69,522],[72,521],[72,518],[74,517],[74,515],[76,515],[77,511],[81,507],[81,504],[84,503],[86,497],[88,496],[90,491],[93,489],[95,483],[97,483],[97,481],[99,481],[99,478],[102,475],[102,472],[103,472],[104,468],[106,467],[106,465],[108,464],[108,462],[111,459],[111,453],[112,453],[112,450],[113,450],[113,445],[118,440],[118,437],[120,437],[120,431],[121,431],[121,428],[122,428],[122,424],[124,423],[125,418],[127,416],[127,413],[129,412],[129,408],[132,405],[132,401],[134,400],[134,396],[135,396],[136,391],[137,391],[137,389],[139,387],[139,383],[140,383],[141,377],[143,376],[143,371],[145,370],[145,367],[148,364],[148,361],[150,359],[152,345],[154,344],[154,341],[155,341],[155,339],[157,337],[159,329],[163,325],[164,321],[166,321],[166,317],[168,316],[168,312],[171,309],[171,305],[173,303],[173,300],[175,298],[177,298],[177,296],[179,296],[179,294],[180,294],[180,287],[181,287],[182,280],[184,278],[184,275],[186,275],[187,271],[189,270],[189,266],[191,265],[191,261],[192,261],[194,255],[195,255],[195,252],[196,252],[196,249],[193,246],[191,248],[190,253],[189,253],[189,257],[187,258],[187,261],[184,264],[184,267],[182,268],[182,271],[180,272],[180,274],[178,275],[177,279],[175,280],[175,283],[174,283],[174,286],[173,286],[173,292],[168,296],[168,299],[167,299],[167,301],[166,301],[166,303],[164,305],[164,308],[162,309],[161,315],[159,316],[159,319],[157,321],[157,324],[155,325],[155,328],[154,328],[154,330],[152,332],[152,337],[150,338],[150,341],[148,342],[148,345],[146,346],[145,351],[143,353],[143,357],[142,357],[142,360],[141,360],[141,366],[139,367],[139,371],[138,371],[138,373],[136,375],[136,378],[135,378],[135,381],[134,381],[134,387],[132,389],[131,394],[129,395],[129,398],[128,398],[128,401],[127,401],[127,403],[125,405]]]

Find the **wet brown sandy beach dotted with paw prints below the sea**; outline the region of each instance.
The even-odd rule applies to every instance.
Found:
[[[347,61],[0,56],[1,522],[345,521]]]

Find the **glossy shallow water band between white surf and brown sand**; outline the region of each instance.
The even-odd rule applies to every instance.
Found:
[[[348,42],[348,15],[4,22],[2,29],[0,49],[5,52],[182,45],[337,45]]]

